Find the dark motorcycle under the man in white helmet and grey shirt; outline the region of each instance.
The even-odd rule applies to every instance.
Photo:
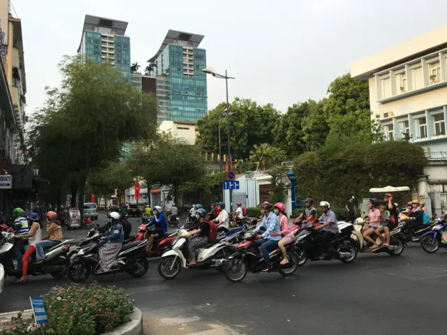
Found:
[[[340,260],[344,263],[352,263],[357,258],[358,242],[353,239],[355,229],[351,223],[339,223],[338,233],[335,239],[329,242],[329,249],[334,253],[326,260]],[[305,265],[310,258],[312,261],[320,260],[321,249],[318,246],[318,237],[323,231],[316,230],[314,223],[306,223],[301,226],[297,237],[294,251],[298,255],[298,265]]]

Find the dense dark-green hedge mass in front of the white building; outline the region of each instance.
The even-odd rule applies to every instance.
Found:
[[[336,208],[352,194],[369,196],[372,187],[415,186],[426,164],[423,149],[406,142],[332,142],[295,158],[293,171],[304,196]]]

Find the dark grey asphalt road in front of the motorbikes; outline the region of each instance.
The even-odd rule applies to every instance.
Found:
[[[193,269],[164,281],[156,265],[152,260],[143,278],[98,280],[135,299],[146,334],[436,334],[444,327],[447,251],[428,255],[418,244],[396,258],[362,254],[351,265],[309,262],[288,278],[248,274],[237,284],[218,271]],[[29,296],[66,282],[41,276],[15,286],[9,277],[0,313],[29,308]]]

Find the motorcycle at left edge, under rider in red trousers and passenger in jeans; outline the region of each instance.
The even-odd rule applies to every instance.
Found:
[[[22,276],[22,269],[15,269],[13,262],[13,258],[15,258],[15,243],[13,238],[14,234],[10,233],[2,233],[0,235],[0,264],[3,265],[7,276],[20,278]],[[54,278],[64,277],[70,265],[68,251],[70,250],[71,241],[73,239],[68,239],[47,249],[45,252],[45,260],[41,264],[36,264],[36,253],[33,253],[27,274],[31,276],[50,274]]]

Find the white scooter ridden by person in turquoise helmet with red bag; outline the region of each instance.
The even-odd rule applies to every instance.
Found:
[[[228,258],[235,251],[235,245],[232,241],[242,234],[243,230],[232,234],[219,241],[212,241],[198,248],[197,263],[191,267],[186,267],[188,259],[188,232],[184,229],[177,233],[177,240],[173,243],[173,248],[163,253],[159,262],[159,274],[165,279],[173,279],[177,277],[182,268],[184,269],[210,269],[214,268],[221,271],[223,263],[222,259]],[[216,262],[214,260],[219,260]]]

